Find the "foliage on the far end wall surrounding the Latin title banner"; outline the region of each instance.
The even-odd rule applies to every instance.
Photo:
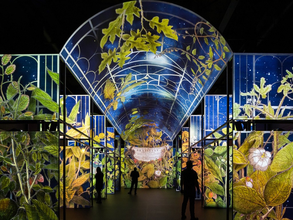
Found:
[[[127,147],[124,153],[125,169],[121,172],[127,188],[130,188],[130,172],[134,167],[139,171],[138,187],[140,188],[172,188],[175,172],[173,172],[173,154],[168,141],[161,139],[162,132],[158,132],[156,127],[142,126],[135,130],[135,134],[129,136],[128,143],[131,146],[145,148],[164,147],[163,155],[154,161],[140,161],[130,154],[131,148]]]

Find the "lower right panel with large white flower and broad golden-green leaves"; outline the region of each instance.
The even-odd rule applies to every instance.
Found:
[[[238,131],[234,137],[234,219],[292,219],[293,132]]]

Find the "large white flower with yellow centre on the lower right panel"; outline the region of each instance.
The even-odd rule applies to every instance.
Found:
[[[254,167],[255,170],[265,171],[268,169],[268,165],[272,163],[271,153],[265,151],[264,148],[250,148],[248,161]]]

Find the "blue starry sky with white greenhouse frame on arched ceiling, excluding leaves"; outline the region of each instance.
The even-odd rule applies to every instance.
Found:
[[[135,6],[139,7],[139,3],[137,2]],[[190,34],[194,34],[196,31],[200,35],[202,27],[205,27],[203,35],[211,34],[207,33],[207,27],[204,24],[195,30],[197,22],[207,21],[188,9],[160,1],[143,1],[142,6],[144,16],[149,20],[155,16],[159,17],[159,22],[162,19],[169,19],[168,25],[173,26],[172,29],[180,33],[178,41],[166,37],[163,32],[157,33],[156,28],[153,30],[148,27],[147,31],[160,35],[156,42],[160,43],[161,46],[157,47],[156,54],[133,48],[128,55],[130,59],[125,61],[123,68],[112,62],[99,74],[98,68],[102,61],[101,53],[108,53],[109,49],[114,50],[119,44],[119,38],[116,37],[113,44],[107,41],[101,48],[102,29],[108,28],[109,23],[117,18],[115,9],[122,8],[121,4],[101,11],[88,19],[69,38],[60,52],[60,56],[118,133],[125,132],[125,126],[133,116],[133,109],[136,108],[138,112],[135,116],[150,120],[173,140],[196,109],[202,97],[212,87],[226,66],[226,62],[231,58],[232,52],[229,45],[226,44],[230,52],[225,51],[225,58],[221,59],[219,50],[223,51],[223,47],[216,49],[212,40],[205,42],[204,38],[199,38],[194,43],[191,37],[183,38],[182,34],[186,34],[186,31]],[[130,33],[130,30],[137,31],[141,28],[141,18],[134,16],[132,26],[126,22],[123,32]],[[155,57],[165,49],[187,50],[187,46],[190,46],[190,53],[197,49],[195,55],[197,58],[200,56],[212,57],[212,60],[215,60],[214,64],[217,64],[221,69],[216,70],[212,67],[211,73],[206,75],[206,79],[203,75],[198,77],[203,86],[199,80],[195,80],[193,75],[193,70],[196,72],[199,67],[192,59],[189,60],[186,54],[181,54],[182,51],[173,51]],[[213,55],[209,55],[209,48],[214,50]],[[205,59],[202,60],[203,63],[205,61]],[[113,107],[107,108],[110,104],[110,101],[104,97],[107,79],[110,79],[118,87],[121,83],[120,78],[125,78],[129,73],[132,74],[131,80],[146,82],[124,94],[125,101],[119,100],[116,110],[113,110]]]

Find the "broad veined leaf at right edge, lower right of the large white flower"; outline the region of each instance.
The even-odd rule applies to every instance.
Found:
[[[272,178],[265,185],[264,198],[268,206],[283,204],[292,188],[292,168]]]

